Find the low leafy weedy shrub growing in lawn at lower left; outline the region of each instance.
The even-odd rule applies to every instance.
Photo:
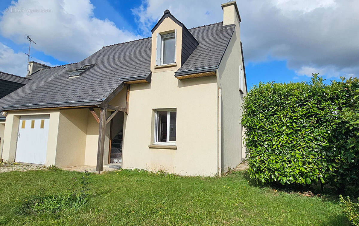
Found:
[[[85,171],[80,180],[72,178],[70,189],[64,195],[34,196],[23,203],[22,211],[26,213],[52,212],[77,209],[88,201],[90,174]],[[80,186],[80,187],[79,187]]]

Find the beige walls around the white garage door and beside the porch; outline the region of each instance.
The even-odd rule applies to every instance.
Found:
[[[99,114],[99,110],[95,109]],[[50,116],[46,166],[95,166],[97,161],[98,123],[88,108],[24,110],[8,112],[4,129],[3,159],[15,161],[17,135],[21,116],[46,114]],[[110,112],[108,112],[110,114]],[[104,163],[108,163],[109,132],[105,138]]]

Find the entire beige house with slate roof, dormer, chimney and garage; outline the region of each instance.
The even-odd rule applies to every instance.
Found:
[[[245,156],[247,93],[235,1],[223,22],[187,29],[169,10],[149,38],[43,68],[3,99],[3,158],[220,175]]]

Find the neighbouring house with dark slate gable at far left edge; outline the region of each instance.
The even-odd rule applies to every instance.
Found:
[[[29,79],[20,77],[14,74],[0,72],[0,98],[5,97],[11,92],[14,92],[20,87],[27,84]],[[4,140],[4,129],[5,129],[5,116],[0,114],[0,159],[3,151],[3,140]]]

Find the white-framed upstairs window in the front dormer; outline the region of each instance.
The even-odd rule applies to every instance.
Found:
[[[156,65],[176,63],[176,30],[168,34],[157,33]]]

